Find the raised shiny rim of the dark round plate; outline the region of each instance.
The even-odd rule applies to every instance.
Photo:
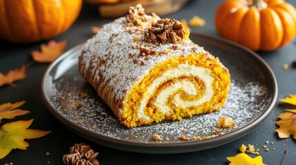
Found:
[[[56,119],[58,119],[58,121],[61,122],[61,124],[66,126],[68,129],[70,129],[70,131],[75,132],[75,133],[79,132],[79,133],[77,133],[78,135],[85,137],[86,139],[91,140],[92,142],[96,142],[97,144],[101,144],[101,145],[108,146],[111,148],[117,148],[117,149],[124,150],[124,151],[132,151],[132,152],[137,152],[137,153],[187,153],[187,152],[192,152],[192,151],[204,150],[206,148],[213,148],[215,146],[220,146],[222,144],[226,144],[226,143],[232,142],[234,140],[237,140],[239,137],[242,137],[242,136],[246,135],[247,133],[249,133],[250,131],[252,131],[253,129],[257,128],[257,126],[259,126],[259,124],[261,124],[262,122],[264,122],[264,120],[266,120],[266,118],[268,118],[268,115],[270,115],[271,111],[273,110],[273,107],[275,106],[275,103],[277,101],[277,93],[278,93],[277,80],[276,80],[275,74],[273,73],[273,71],[270,68],[270,66],[268,65],[268,63],[266,63],[266,61],[264,61],[264,59],[261,56],[259,56],[259,54],[253,52],[252,50],[249,50],[247,47],[244,47],[242,45],[234,43],[233,41],[228,41],[227,39],[222,39],[221,37],[217,37],[217,36],[210,36],[208,34],[193,33],[190,35],[197,37],[197,38],[200,36],[200,37],[204,37],[204,38],[208,38],[208,39],[214,39],[216,41],[220,41],[220,42],[238,47],[239,49],[244,50],[244,51],[248,52],[249,54],[252,54],[253,55],[252,57],[255,59],[255,61],[257,61],[260,65],[262,65],[262,67],[264,69],[266,69],[268,76],[270,76],[270,79],[271,79],[270,83],[271,83],[271,86],[273,89],[271,91],[272,94],[271,94],[271,99],[270,99],[269,104],[267,105],[266,109],[264,109],[264,113],[259,115],[259,117],[256,120],[254,120],[253,122],[250,122],[249,124],[246,124],[245,126],[242,126],[239,129],[235,129],[235,131],[232,131],[230,133],[226,133],[224,135],[219,135],[217,137],[211,137],[209,139],[199,140],[199,141],[193,140],[193,141],[172,142],[172,143],[170,143],[170,142],[166,142],[166,143],[132,142],[129,140],[123,140],[123,139],[118,139],[116,137],[102,135],[100,133],[96,133],[95,131],[90,131],[89,129],[86,129],[83,126],[80,126],[79,124],[72,122],[68,118],[61,115],[61,113],[59,113],[50,103],[49,98],[46,96],[46,89],[45,89],[46,78],[48,77],[51,69],[53,67],[55,67],[55,65],[57,63],[59,63],[60,61],[62,61],[64,58],[66,58],[67,56],[69,56],[73,52],[76,52],[77,50],[81,49],[81,47],[83,46],[83,43],[80,45],[77,45],[75,47],[72,47],[70,50],[68,50],[63,55],[61,55],[59,58],[57,58],[56,61],[51,63],[46,68],[46,71],[44,72],[43,77],[42,77],[42,81],[41,81],[41,96],[43,98],[43,102],[46,104],[46,107],[48,108],[50,113],[52,115],[54,115],[54,117]],[[73,131],[72,129],[74,129],[75,131]],[[81,133],[83,135],[81,135]],[[84,136],[85,134],[87,134],[87,135]],[[221,141],[223,141],[223,142],[221,143]],[[212,145],[207,146],[207,144],[212,144]],[[126,148],[122,149],[124,146]],[[170,149],[177,148],[180,146],[184,146],[184,147],[190,146],[190,148],[183,149],[183,150],[181,149],[178,151],[170,150]],[[201,148],[199,148],[198,146],[201,146]],[[157,149],[160,149],[159,150],[160,152],[157,151]],[[166,150],[168,150],[168,151],[166,151]]]

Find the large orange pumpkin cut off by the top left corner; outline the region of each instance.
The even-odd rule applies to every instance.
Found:
[[[0,38],[14,43],[50,39],[70,28],[82,0],[0,0]]]

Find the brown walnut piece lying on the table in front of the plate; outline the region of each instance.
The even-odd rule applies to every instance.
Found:
[[[70,147],[70,154],[63,155],[63,163],[67,165],[99,165],[99,161],[96,159],[98,154],[92,151],[89,145],[75,144]]]

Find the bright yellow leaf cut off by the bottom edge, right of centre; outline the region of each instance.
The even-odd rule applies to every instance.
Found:
[[[246,155],[246,153],[239,153],[234,157],[227,157],[227,159],[230,161],[229,165],[264,165],[261,156],[252,158]]]

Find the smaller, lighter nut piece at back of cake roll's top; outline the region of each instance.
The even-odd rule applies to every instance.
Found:
[[[130,6],[126,20],[132,22],[134,25],[143,25],[143,22],[147,21],[144,8],[141,4],[137,4],[135,7]]]

